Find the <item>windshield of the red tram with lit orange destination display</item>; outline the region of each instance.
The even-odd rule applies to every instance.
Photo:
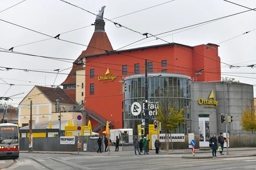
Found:
[[[18,130],[15,126],[0,127],[0,144],[18,143]]]

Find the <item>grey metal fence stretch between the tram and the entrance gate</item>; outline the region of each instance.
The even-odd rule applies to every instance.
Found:
[[[83,152],[84,144],[87,144],[87,152],[96,152],[98,150],[98,139],[92,139],[90,136],[80,136]],[[60,137],[33,138],[33,150],[35,151],[77,151],[78,137],[75,137],[75,144],[60,144]],[[28,150],[29,138],[20,138],[20,150]],[[102,136],[102,151],[104,151],[104,136]]]

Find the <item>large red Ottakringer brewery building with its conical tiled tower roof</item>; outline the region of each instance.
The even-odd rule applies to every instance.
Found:
[[[148,59],[148,72],[170,72],[186,74],[192,81],[221,80],[218,45],[208,43],[197,46],[169,43],[128,50],[113,51],[105,32],[104,20],[96,19],[95,31],[85,51],[78,59],[85,65],[73,65],[70,76],[62,83],[64,90],[76,99],[77,70],[84,70],[84,106],[95,111],[106,120],[112,121],[113,128],[123,128],[123,94],[119,81],[131,74],[145,73],[145,59]],[[204,68],[201,76],[195,71]],[[79,101],[76,101],[79,102]],[[98,122],[89,116],[93,127]],[[99,130],[99,129],[98,129]]]

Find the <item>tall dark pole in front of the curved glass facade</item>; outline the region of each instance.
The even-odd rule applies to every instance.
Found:
[[[148,59],[145,59],[145,137],[148,134],[148,116]]]

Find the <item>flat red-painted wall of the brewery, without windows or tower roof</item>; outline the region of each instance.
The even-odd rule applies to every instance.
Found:
[[[218,74],[202,72],[202,76],[198,76],[198,81],[216,81],[221,79],[220,62],[212,60],[220,60],[217,56],[218,50],[207,48],[206,45],[197,46],[195,48],[180,47],[182,48],[166,45],[157,48],[152,47],[143,50],[124,51],[120,52],[121,54],[99,55],[98,57],[87,58],[85,74],[90,75],[90,69],[95,69],[95,77],[90,78],[86,76],[85,78],[85,107],[96,111],[109,121],[112,121],[114,125],[113,129],[123,128],[123,94],[120,93],[122,86],[119,81],[122,77],[134,74],[134,64],[137,63],[140,63],[140,73],[145,73],[145,59],[148,59],[148,62],[153,60],[153,72],[161,72],[162,70],[168,69],[167,72],[169,73],[180,73],[190,77],[196,77],[195,70],[204,68],[204,71],[217,72]],[[217,46],[214,48],[217,48]],[[212,59],[207,59],[191,51],[211,57]],[[167,60],[167,66],[162,67],[162,60]],[[127,75],[122,75],[122,65],[128,65]],[[98,76],[105,76],[107,68],[109,68],[112,74],[111,76],[118,76],[117,79],[114,79],[113,82],[99,81]],[[90,95],[91,83],[95,84],[93,95]]]

